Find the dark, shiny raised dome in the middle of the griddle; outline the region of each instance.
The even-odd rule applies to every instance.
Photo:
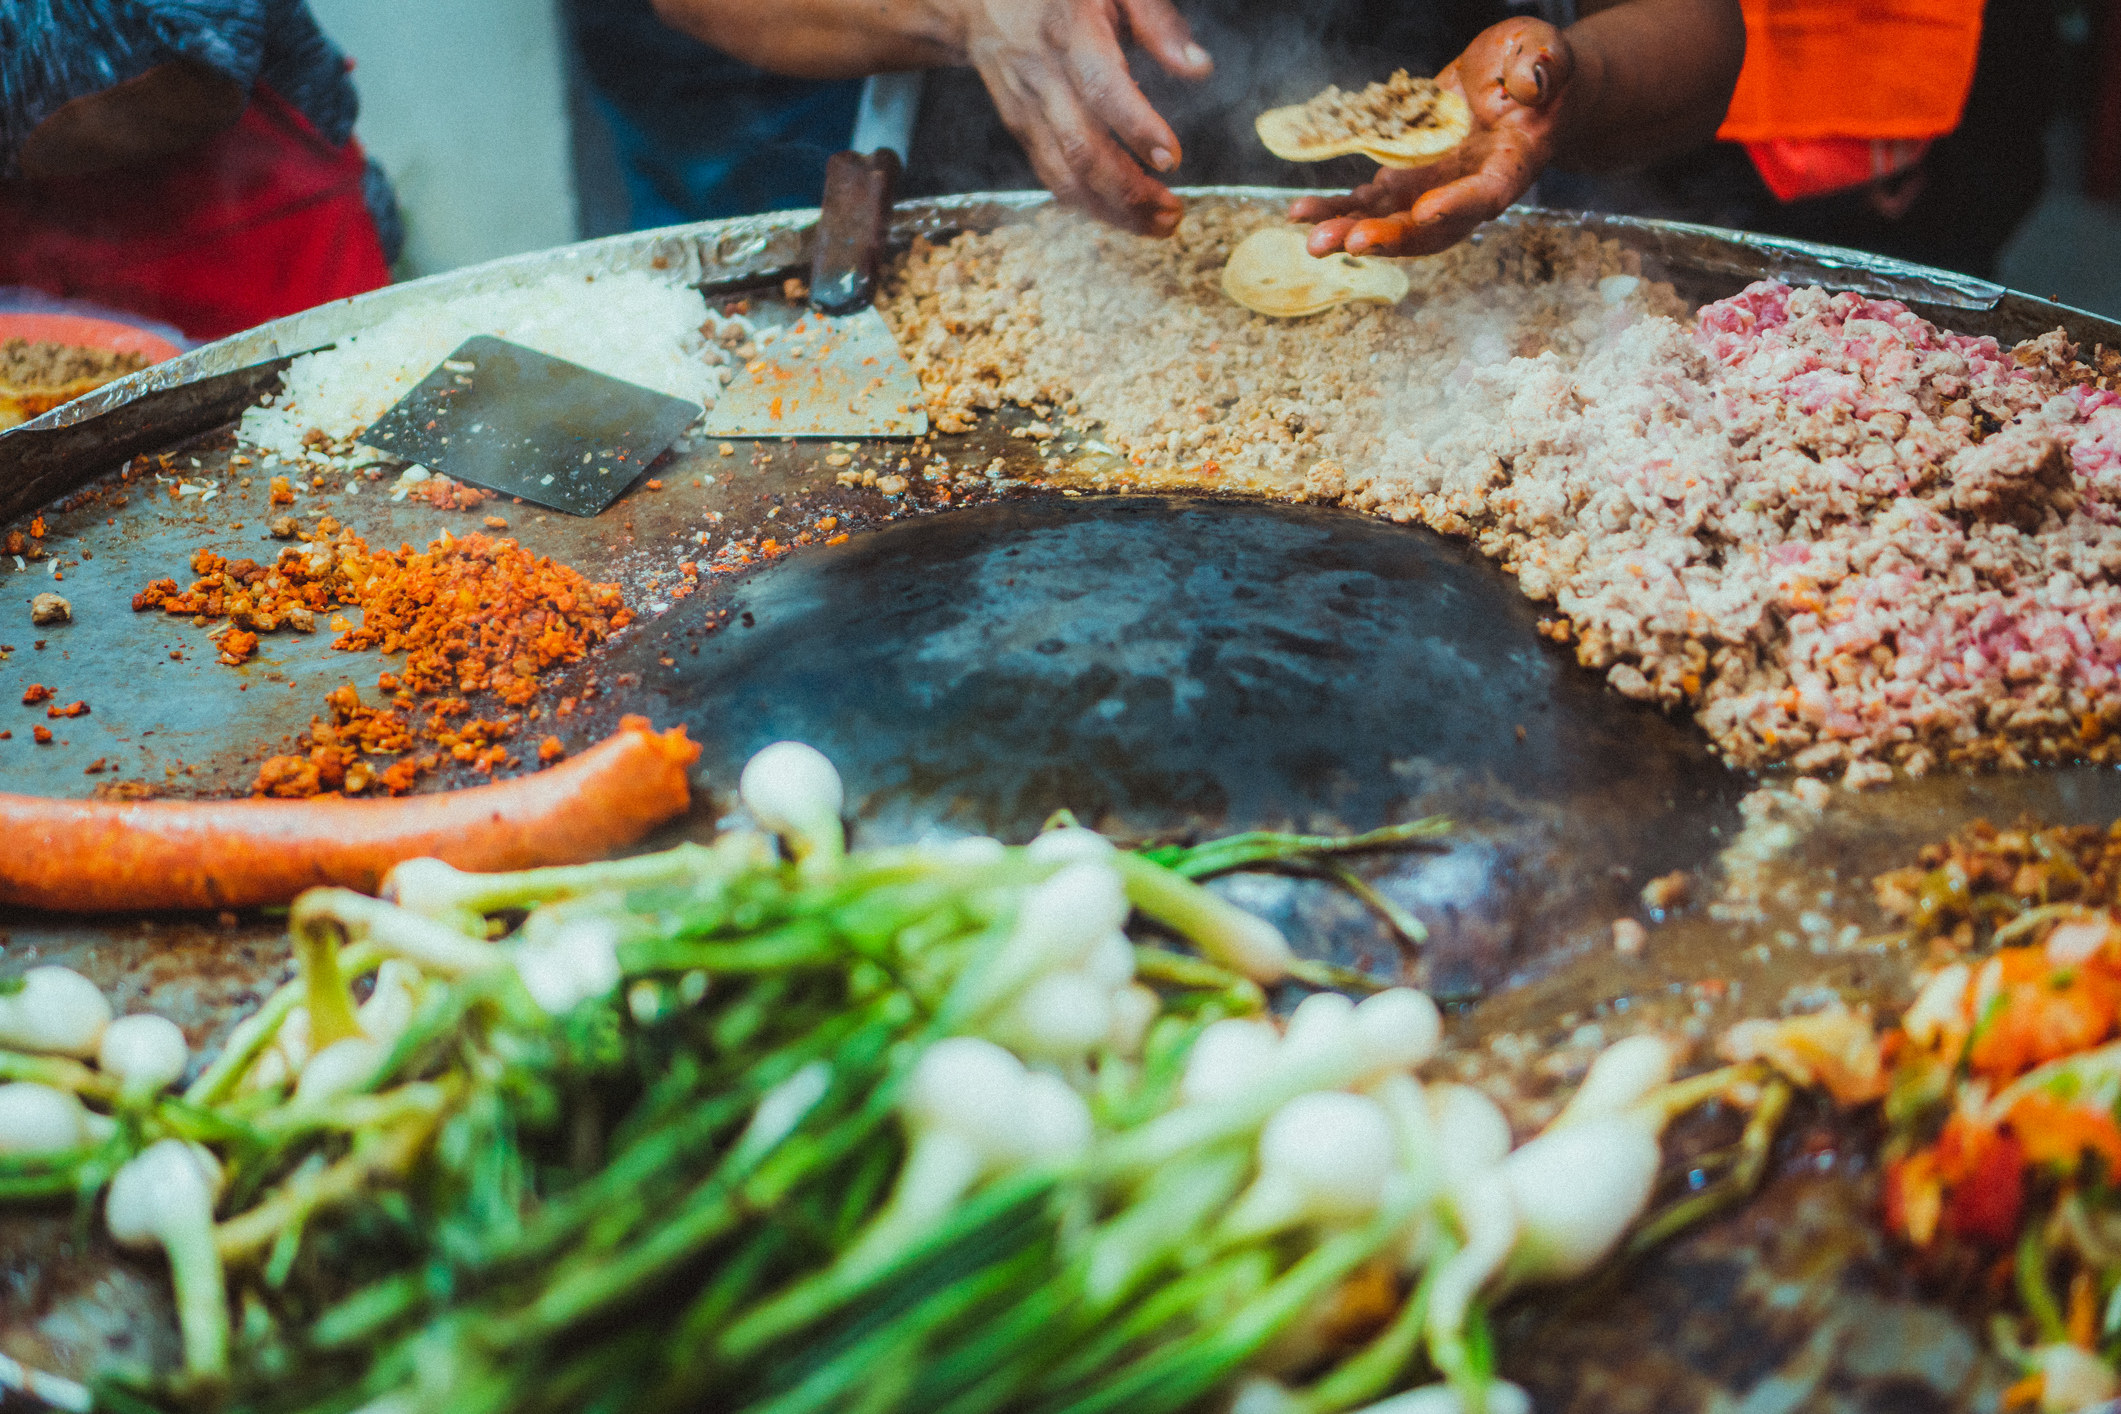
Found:
[[[1447,994],[1705,861],[1743,791],[1544,644],[1468,549],[1349,511],[1003,500],[789,555],[666,628],[704,615],[698,655],[613,657],[632,702],[715,780],[781,738],[823,748],[870,837],[1022,839],[1060,808],[1122,837],[1451,816],[1447,846],[1370,865],[1430,920],[1417,975]],[[1251,901],[1330,914],[1321,890]],[[1381,962],[1366,929],[1290,924]]]

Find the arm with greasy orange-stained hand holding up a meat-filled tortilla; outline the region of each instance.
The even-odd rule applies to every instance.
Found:
[[[1737,0],[1618,0],[1567,32],[1508,19],[1436,76],[1472,108],[1466,142],[1345,197],[1304,197],[1290,214],[1319,223],[1313,254],[1442,250],[1500,216],[1548,161],[1625,167],[1705,142],[1743,57]]]

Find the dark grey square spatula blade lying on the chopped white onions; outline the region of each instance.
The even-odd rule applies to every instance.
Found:
[[[361,441],[503,496],[596,515],[698,416],[698,403],[479,335]]]

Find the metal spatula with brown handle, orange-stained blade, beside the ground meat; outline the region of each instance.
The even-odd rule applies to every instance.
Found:
[[[810,257],[810,310],[721,390],[717,437],[923,437],[921,379],[870,303],[899,159],[834,153]]]

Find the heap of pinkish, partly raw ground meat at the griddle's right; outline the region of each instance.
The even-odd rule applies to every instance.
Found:
[[[1739,763],[2104,761],[2121,394],[2072,354],[1756,284],[1472,373],[1349,500],[1476,534],[1582,664]]]

